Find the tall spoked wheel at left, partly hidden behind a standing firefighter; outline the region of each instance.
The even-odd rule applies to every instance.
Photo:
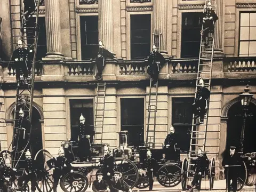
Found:
[[[37,173],[37,186],[39,192],[50,192],[53,189],[53,170],[49,170],[46,162],[53,158],[52,155],[45,149],[41,149],[35,156],[35,161],[41,172]]]

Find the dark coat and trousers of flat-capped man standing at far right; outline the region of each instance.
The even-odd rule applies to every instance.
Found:
[[[230,154],[223,157],[222,166],[225,165],[241,165],[242,158],[237,153],[233,156]],[[239,167],[238,166],[231,166],[225,167],[225,176],[226,176],[226,183],[228,186],[228,191],[237,191],[237,177],[238,177]],[[232,185],[230,185],[232,180]]]

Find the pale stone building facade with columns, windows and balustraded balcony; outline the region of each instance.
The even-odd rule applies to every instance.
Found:
[[[241,131],[242,119],[235,116],[242,113],[238,95],[246,84],[250,84],[252,94],[256,93],[256,37],[252,33],[256,28],[256,4],[253,0],[215,2],[219,20],[215,26],[206,151],[221,161],[221,154],[232,142],[229,138],[238,137]],[[19,38],[19,3],[20,0],[0,3],[5,55],[5,61],[0,62],[2,149],[12,141],[17,84],[13,63],[8,60]],[[90,58],[95,57],[98,39],[117,58],[107,60],[103,71],[107,83],[103,142],[112,148],[118,146],[121,130],[130,131],[132,145],[145,141],[150,79],[145,60],[153,43],[151,34],[154,29],[161,29],[160,50],[166,62],[159,74],[156,142],[164,142],[173,124],[186,156],[204,4],[202,0],[44,0],[39,10],[40,60],[36,66],[33,112],[38,146],[57,154],[61,141],[76,134],[81,113],[93,126],[97,81]],[[250,113],[255,111],[255,105],[253,98]],[[255,151],[249,137],[255,118],[248,121],[245,149]]]

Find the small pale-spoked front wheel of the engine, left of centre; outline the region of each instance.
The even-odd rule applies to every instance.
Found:
[[[67,173],[60,180],[60,187],[65,192],[84,192],[88,188],[88,179],[82,172]]]

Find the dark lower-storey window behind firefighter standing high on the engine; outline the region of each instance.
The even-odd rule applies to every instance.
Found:
[[[85,124],[93,127],[93,99],[70,100],[71,141],[77,141],[79,134],[79,117],[81,114],[85,117]]]

